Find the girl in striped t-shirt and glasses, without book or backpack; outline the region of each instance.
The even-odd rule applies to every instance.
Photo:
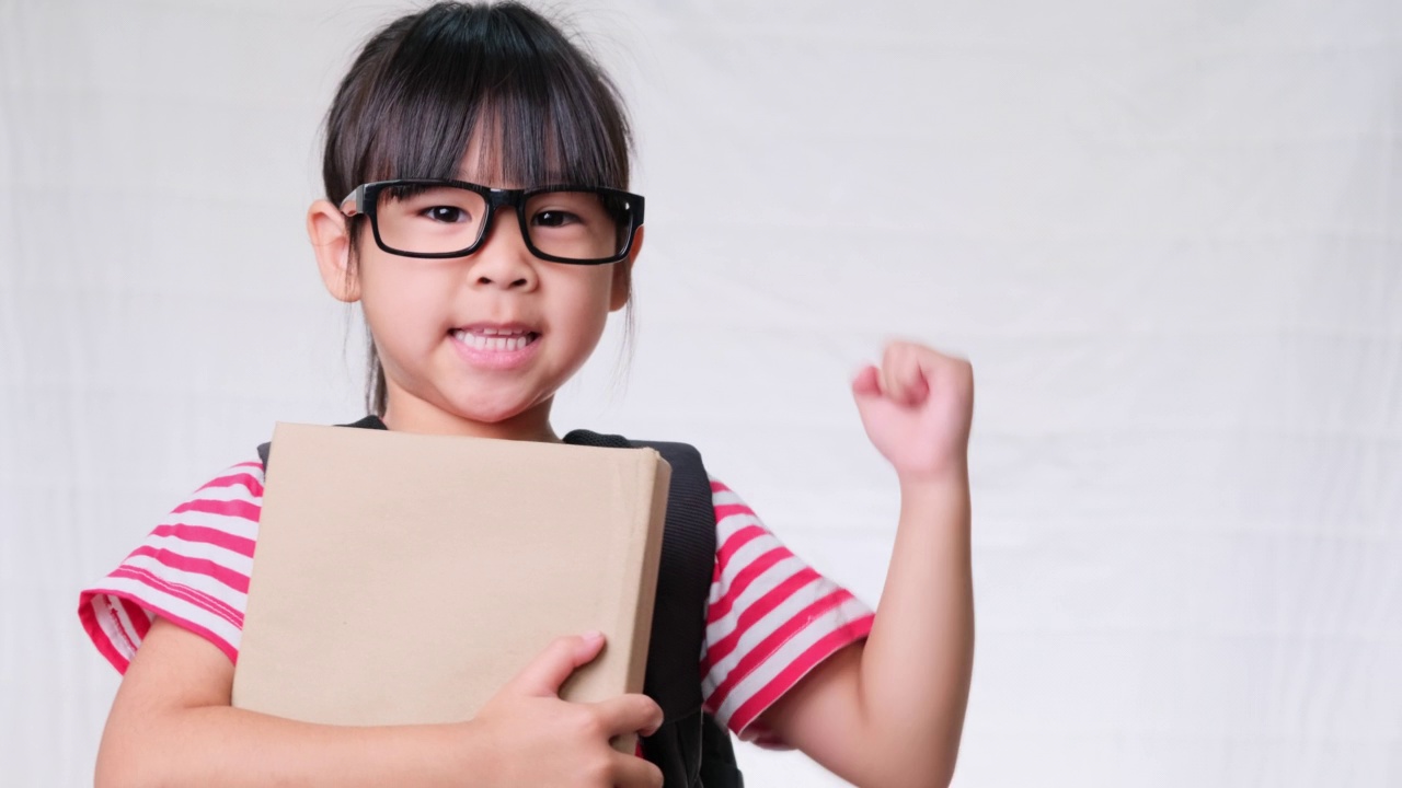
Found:
[[[597,64],[517,4],[400,18],[339,86],[322,175],[328,199],[307,230],[327,289],[365,311],[370,421],[557,440],[552,397],[628,304],[644,241],[627,121]],[[900,478],[880,614],[712,482],[705,708],[742,739],[801,749],[859,785],[945,785],[973,655],[973,377],[963,360],[897,342],[852,394]],[[656,731],[656,702],[557,697],[599,653],[597,634],[562,634],[461,724],[335,728],[233,708],[261,495],[262,466],[234,466],[83,593],[87,632],[123,672],[100,785],[662,784],[656,764],[608,746]]]

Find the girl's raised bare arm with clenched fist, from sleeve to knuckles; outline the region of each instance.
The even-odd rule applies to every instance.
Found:
[[[866,433],[900,478],[900,524],[865,644],[833,655],[760,722],[862,787],[945,787],[973,670],[969,425],[973,370],[892,344],[852,383]]]

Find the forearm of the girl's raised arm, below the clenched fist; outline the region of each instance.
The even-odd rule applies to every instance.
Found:
[[[973,672],[969,474],[901,482],[900,527],[862,653],[859,695],[894,774],[946,785]]]

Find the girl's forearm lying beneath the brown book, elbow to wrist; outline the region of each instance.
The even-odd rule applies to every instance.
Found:
[[[133,714],[108,731],[98,788],[461,787],[491,754],[470,722],[342,728],[231,707]]]

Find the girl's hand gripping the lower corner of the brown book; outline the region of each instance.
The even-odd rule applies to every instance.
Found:
[[[658,788],[662,771],[624,754],[608,739],[652,735],[662,708],[646,695],[622,695],[596,704],[559,700],[559,686],[603,648],[603,635],[559,638],[496,694],[468,722],[485,735],[491,759],[488,784],[569,785],[580,788]]]

